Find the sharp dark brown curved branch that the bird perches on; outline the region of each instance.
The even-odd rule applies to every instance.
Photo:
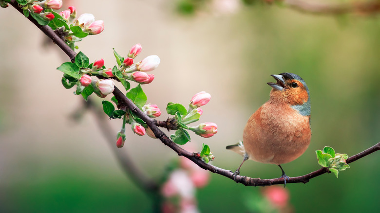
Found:
[[[19,7],[17,6],[17,3],[15,3],[14,0],[11,1],[12,6],[14,6],[16,9],[19,10]],[[22,10],[19,10],[19,12],[22,13]],[[33,23],[34,19],[29,17],[29,20],[31,20]],[[76,53],[71,50],[65,42],[60,40],[60,38],[54,33],[54,31],[48,27],[48,26],[39,26],[38,23],[36,24],[39,29],[41,29],[47,36],[49,36],[55,43],[70,57],[70,59],[75,59]],[[69,49],[67,49],[69,48]],[[245,176],[233,176],[233,172],[222,169],[210,164],[205,163],[203,160],[200,160],[195,157],[194,153],[191,153],[185,149],[182,149],[179,147],[176,143],[172,142],[168,136],[162,132],[158,126],[155,124],[154,120],[149,118],[144,112],[142,112],[136,105],[133,104],[133,102],[128,99],[123,92],[121,92],[117,87],[114,88],[113,92],[114,96],[118,100],[119,103],[123,103],[126,107],[128,107],[130,110],[132,110],[141,120],[143,120],[153,131],[156,138],[158,138],[162,143],[169,146],[172,150],[174,150],[179,156],[184,156],[188,158],[189,160],[193,161],[195,164],[197,164],[199,167],[209,170],[213,173],[218,173],[222,176],[228,177],[230,179],[235,180],[238,183],[242,183],[246,186],[268,186],[268,185],[276,185],[276,184],[284,184],[283,178],[275,178],[275,179],[260,179],[260,178],[252,178],[252,177],[245,177]],[[367,156],[375,151],[378,151],[380,149],[380,142],[376,145],[368,148],[367,150],[351,156],[346,160],[347,163],[351,163],[353,161],[359,160],[364,156]],[[328,173],[328,168],[321,168],[317,171],[311,172],[307,175],[300,176],[300,177],[290,177],[289,180],[287,180],[287,183],[307,183],[311,178],[320,176],[324,173]]]

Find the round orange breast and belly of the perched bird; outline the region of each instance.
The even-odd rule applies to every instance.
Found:
[[[249,118],[243,143],[249,159],[283,164],[300,157],[311,139],[309,116],[270,100]]]

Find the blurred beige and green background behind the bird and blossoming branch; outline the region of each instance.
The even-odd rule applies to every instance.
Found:
[[[91,13],[105,23],[101,34],[76,43],[79,50],[90,62],[103,58],[106,67],[116,64],[112,48],[123,56],[140,43],[135,61],[158,55],[155,79],[143,86],[148,102],[163,111],[158,120],[168,118],[168,102],[186,106],[195,93],[210,93],[198,123],[218,124],[218,134],[209,139],[191,134],[189,147],[200,151],[202,143],[209,144],[213,165],[232,171],[239,166],[242,157],[225,147],[242,140],[247,119],[268,100],[270,74],[281,72],[304,78],[312,104],[313,137],[299,159],[283,165],[288,176],[321,168],[315,150],[325,145],[352,156],[380,141],[377,16],[312,15],[240,0],[108,2],[64,1],[61,10],[74,5],[78,15]],[[46,36],[13,7],[0,8],[0,19],[0,211],[152,212],[152,196],[125,175],[95,115],[72,119],[83,98],[63,88],[56,70],[69,58],[47,45]],[[102,99],[91,97],[101,106]],[[103,122],[116,136],[121,120]],[[117,152],[148,177],[162,178],[168,165],[182,158],[128,128]],[[324,174],[286,185],[285,208],[267,208],[263,199],[270,187],[245,187],[211,173],[194,202],[199,212],[377,212],[379,159],[374,153],[355,161],[338,179]],[[254,161],[246,162],[241,174],[281,175],[276,165]]]

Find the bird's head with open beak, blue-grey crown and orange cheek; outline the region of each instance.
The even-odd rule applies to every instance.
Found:
[[[276,79],[277,82],[267,83],[273,88],[270,91],[270,100],[286,102],[302,115],[309,116],[310,95],[304,79],[289,72],[271,76]]]

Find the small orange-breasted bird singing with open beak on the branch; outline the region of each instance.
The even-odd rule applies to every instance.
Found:
[[[310,144],[310,94],[304,79],[297,74],[283,72],[271,76],[276,83],[267,83],[272,87],[269,100],[248,119],[243,141],[226,149],[243,156],[233,176],[240,175],[246,160],[276,164],[282,171],[279,178],[284,178],[286,186],[289,177],[281,164],[296,160]]]

